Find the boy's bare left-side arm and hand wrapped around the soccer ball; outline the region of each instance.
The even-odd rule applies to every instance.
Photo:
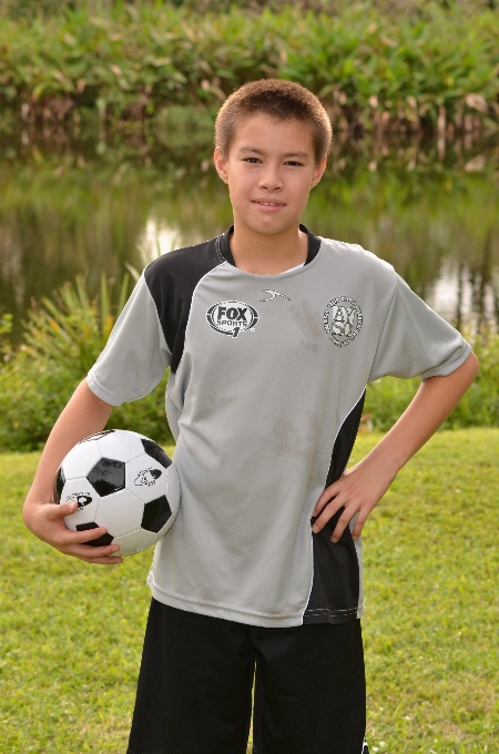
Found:
[[[104,528],[91,531],[70,531],[62,518],[73,513],[77,502],[52,503],[57,470],[71,448],[89,435],[100,432],[111,414],[112,406],[98,398],[83,380],[50,432],[43,449],[33,483],[24,502],[22,516],[33,534],[64,554],[74,556],[89,563],[112,566],[122,559],[112,553],[116,544],[91,547],[83,544],[105,533]]]

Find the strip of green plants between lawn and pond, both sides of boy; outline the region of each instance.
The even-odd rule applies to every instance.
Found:
[[[136,278],[138,272],[130,267]],[[103,349],[129,288],[125,275],[115,305],[113,285],[102,276],[100,295],[90,300],[84,282],[65,284],[52,298],[33,305],[23,344],[9,343],[12,320],[0,319],[0,450],[33,450],[43,445],[75,387]],[[499,427],[499,335],[473,338],[480,373],[444,424],[447,429]],[[172,436],[164,415],[166,375],[145,398],[113,409],[110,426],[144,432],[161,442]],[[384,377],[368,385],[365,414],[374,429],[388,430],[404,412],[420,381]]]

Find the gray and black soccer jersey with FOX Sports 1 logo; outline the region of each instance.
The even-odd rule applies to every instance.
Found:
[[[118,406],[171,367],[182,503],[147,582],[174,608],[263,626],[360,617],[361,539],[350,524],[329,541],[339,512],[313,534],[315,503],[368,381],[448,375],[470,353],[390,265],[307,233],[305,265],[282,275],[235,267],[230,231],[156,259],[89,373]]]

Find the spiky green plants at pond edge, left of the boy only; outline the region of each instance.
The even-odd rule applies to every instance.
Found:
[[[104,276],[101,293],[90,299],[84,281],[65,284],[33,305],[18,349],[9,343],[11,318],[0,320],[0,450],[34,450],[43,445],[79,383],[96,360],[124,306],[125,275],[112,305],[113,285]],[[166,376],[140,401],[113,410],[114,428],[132,429],[171,441],[164,415]]]

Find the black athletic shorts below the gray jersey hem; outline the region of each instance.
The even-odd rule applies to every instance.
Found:
[[[246,754],[253,683],[254,754],[368,754],[360,621],[264,629],[154,599],[128,754]]]

